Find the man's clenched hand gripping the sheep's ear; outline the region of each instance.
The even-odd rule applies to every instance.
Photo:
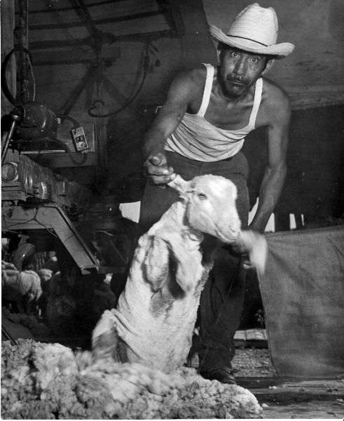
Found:
[[[144,161],[144,170],[146,177],[153,185],[162,185],[162,187],[177,176],[173,168],[167,166],[167,158],[161,152],[153,152],[149,155]]]

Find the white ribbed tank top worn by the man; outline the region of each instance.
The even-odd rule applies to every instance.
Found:
[[[214,79],[214,67],[208,64],[205,64],[205,67],[207,67],[207,79],[200,109],[197,114],[184,114],[179,126],[167,138],[165,150],[177,152],[195,161],[214,162],[237,154],[244,144],[247,133],[254,130],[256,115],[261,104],[263,79],[256,81],[254,104],[247,126],[238,130],[224,130],[213,126],[204,118]]]

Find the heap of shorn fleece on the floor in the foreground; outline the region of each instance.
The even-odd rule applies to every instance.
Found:
[[[194,368],[170,374],[138,363],[94,361],[87,351],[18,340],[1,349],[2,419],[257,418],[254,395],[205,380]]]

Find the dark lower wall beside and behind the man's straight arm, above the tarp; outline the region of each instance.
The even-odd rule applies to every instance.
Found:
[[[336,225],[333,218],[343,218],[343,117],[341,105],[292,112],[288,173],[276,213],[303,214],[309,228]],[[243,150],[253,206],[267,159],[266,129],[249,133]]]

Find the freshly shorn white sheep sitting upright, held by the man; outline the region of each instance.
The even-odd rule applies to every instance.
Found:
[[[140,237],[130,274],[116,309],[106,311],[92,333],[99,358],[142,363],[170,373],[186,362],[200,293],[219,242],[250,251],[261,273],[267,246],[263,236],[241,231],[233,182],[203,175],[170,183],[180,199]],[[207,239],[207,241],[205,241]]]

